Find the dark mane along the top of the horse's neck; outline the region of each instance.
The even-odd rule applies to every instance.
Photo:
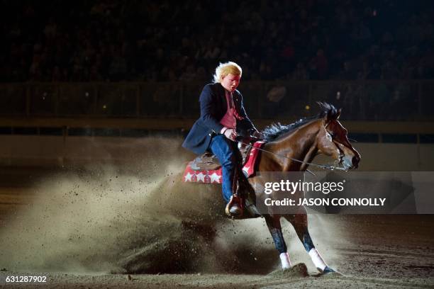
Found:
[[[267,128],[262,130],[262,135],[264,136],[265,141],[272,142],[273,140],[277,140],[286,132],[296,130],[297,128],[301,127],[301,125],[309,123],[312,120],[323,118],[325,115],[328,115],[329,118],[335,118],[338,115],[338,110],[330,103],[319,101],[317,103],[321,108],[321,113],[318,113],[318,115],[311,116],[310,118],[301,118],[289,125],[282,125],[281,123],[272,123],[271,125],[268,125]]]

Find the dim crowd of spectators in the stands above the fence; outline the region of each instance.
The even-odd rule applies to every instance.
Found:
[[[432,1],[1,0],[0,79],[432,79]]]

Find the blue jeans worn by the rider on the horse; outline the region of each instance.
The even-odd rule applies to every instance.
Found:
[[[235,174],[236,159],[233,152],[233,144],[224,135],[215,135],[211,139],[209,149],[211,149],[211,152],[216,155],[218,161],[221,163],[221,188],[223,198],[226,200],[226,203],[228,203],[233,194],[232,186]]]

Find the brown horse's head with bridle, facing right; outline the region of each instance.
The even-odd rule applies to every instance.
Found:
[[[347,130],[339,122],[340,109],[328,103],[318,103],[323,109],[321,129],[318,133],[318,150],[333,157],[344,169],[357,169],[360,154],[350,144]]]

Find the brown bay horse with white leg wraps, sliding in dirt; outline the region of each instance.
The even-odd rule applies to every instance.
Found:
[[[308,163],[318,154],[325,154],[335,159],[343,169],[357,169],[360,154],[352,147],[347,137],[347,130],[339,122],[341,110],[328,103],[318,103],[321,113],[313,118],[304,118],[291,125],[270,125],[262,134],[267,142],[263,149],[272,152],[262,152],[258,160],[257,171],[306,171]],[[285,157],[282,157],[285,156]],[[301,162],[294,161],[300,160]],[[253,176],[248,179],[252,188],[264,187],[264,180]],[[260,185],[260,186],[257,186]],[[256,200],[263,202],[267,195],[256,191]],[[281,217],[294,226],[297,236],[311,257],[313,264],[321,273],[334,272],[323,260],[321,254],[313,245],[308,232],[306,208],[300,206],[294,215],[279,215],[269,212],[263,215],[274,246],[279,252],[282,268],[290,268],[291,262],[286,252],[286,243],[280,225]]]

